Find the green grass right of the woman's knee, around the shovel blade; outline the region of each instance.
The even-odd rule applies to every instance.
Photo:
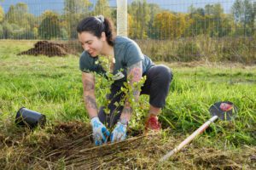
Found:
[[[255,67],[174,68],[174,77],[163,115],[177,131],[195,130],[211,117],[210,105],[229,100],[238,107],[237,116],[232,122],[216,122],[208,134],[235,145],[256,144]]]

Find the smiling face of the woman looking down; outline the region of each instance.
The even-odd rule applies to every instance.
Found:
[[[79,33],[79,42],[81,42],[84,51],[88,52],[92,57],[102,54],[104,41],[106,41],[104,32],[102,32],[101,38],[98,38],[87,31]]]

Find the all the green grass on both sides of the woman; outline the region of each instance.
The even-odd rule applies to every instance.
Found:
[[[89,122],[82,98],[79,57],[16,55],[32,44],[26,41],[0,42],[0,134],[10,133],[7,127],[14,126],[16,111],[22,106],[46,115],[49,127],[56,121]],[[170,134],[181,141],[211,117],[208,108],[213,103],[230,100],[238,107],[236,118],[232,122],[212,123],[207,133],[194,143],[219,150],[256,145],[255,66],[218,63],[166,65],[172,68],[174,79],[160,116],[163,127],[170,127],[162,134],[162,142],[167,141]],[[97,87],[101,87],[96,91],[99,105],[105,96],[107,82],[98,82]],[[136,111],[131,127],[142,129],[143,116],[148,111],[148,97],[140,98],[140,107]]]

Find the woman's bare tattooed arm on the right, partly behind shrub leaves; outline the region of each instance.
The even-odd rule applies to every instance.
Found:
[[[134,65],[127,68],[127,81],[131,88],[133,88],[134,99],[138,99],[140,95],[140,89],[136,88],[133,83],[139,82],[143,77],[143,61],[139,61]],[[125,100],[124,109],[120,116],[120,122],[128,123],[131,120],[132,108],[128,99]]]

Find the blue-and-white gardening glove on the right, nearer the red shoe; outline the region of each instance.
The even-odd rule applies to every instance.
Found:
[[[119,142],[126,139],[126,124],[122,124],[118,122],[117,125],[114,127],[113,132],[111,133],[111,142]]]

